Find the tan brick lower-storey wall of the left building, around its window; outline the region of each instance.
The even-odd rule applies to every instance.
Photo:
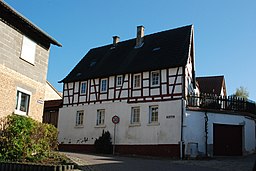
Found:
[[[42,121],[45,84],[32,80],[18,72],[0,65],[0,117],[15,111],[17,87],[32,93],[28,116]]]

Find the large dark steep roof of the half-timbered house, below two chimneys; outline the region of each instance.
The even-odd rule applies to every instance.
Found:
[[[192,29],[189,25],[144,36],[139,48],[130,39],[91,49],[61,82],[185,66]]]

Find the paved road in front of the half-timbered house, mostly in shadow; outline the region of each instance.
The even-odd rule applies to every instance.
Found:
[[[211,160],[97,156],[66,153],[86,171],[251,171],[256,155],[218,157]]]

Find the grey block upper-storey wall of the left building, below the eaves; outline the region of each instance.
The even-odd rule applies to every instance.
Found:
[[[36,46],[35,63],[30,64],[20,58],[23,35],[0,21],[0,64],[31,79],[45,83],[49,49]]]

